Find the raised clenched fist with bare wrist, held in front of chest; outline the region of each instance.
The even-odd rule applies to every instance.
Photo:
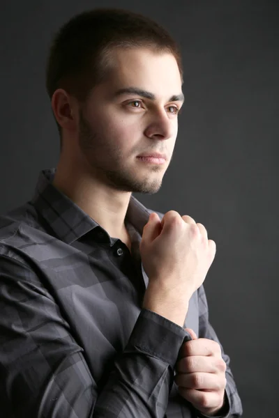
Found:
[[[140,254],[149,277],[142,307],[182,327],[190,297],[213,263],[216,243],[188,215],[169,210],[160,221],[153,212],[144,226]]]

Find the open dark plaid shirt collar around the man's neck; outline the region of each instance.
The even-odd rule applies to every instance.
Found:
[[[55,235],[67,244],[71,244],[100,225],[66,194],[52,185],[55,171],[55,168],[40,171],[31,204],[47,221]],[[132,224],[142,235],[151,212],[153,211],[146,208],[131,194],[126,222]]]

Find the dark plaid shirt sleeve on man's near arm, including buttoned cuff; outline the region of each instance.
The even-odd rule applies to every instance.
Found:
[[[100,387],[38,266],[0,256],[0,312],[3,417],[164,417],[181,344],[191,339],[179,325],[142,309]]]

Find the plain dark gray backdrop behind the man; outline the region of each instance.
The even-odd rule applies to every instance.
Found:
[[[0,212],[29,200],[39,171],[59,158],[44,78],[54,31],[100,6],[144,13],[181,45],[174,158],[160,192],[135,197],[192,216],[216,241],[209,319],[243,417],[278,417],[279,1],[2,1]]]

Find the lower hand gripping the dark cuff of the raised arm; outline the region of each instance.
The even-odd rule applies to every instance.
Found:
[[[174,382],[179,386],[179,394],[183,398],[202,414],[213,417],[223,407],[227,364],[216,341],[198,339],[193,330],[185,330],[193,340],[181,346]]]

